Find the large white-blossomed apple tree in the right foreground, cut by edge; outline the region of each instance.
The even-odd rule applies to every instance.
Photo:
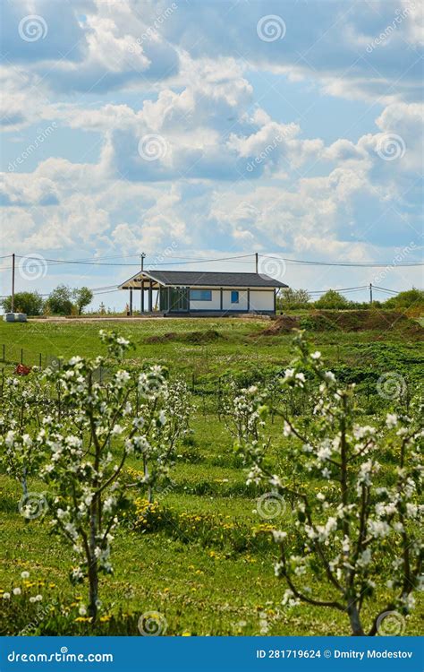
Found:
[[[313,415],[277,412],[289,441],[289,463],[300,478],[294,490],[287,470],[274,473],[246,432],[248,483],[265,482],[293,501],[294,523],[273,532],[280,556],[276,576],[287,585],[284,604],[336,609],[349,617],[352,634],[374,635],[386,613],[410,612],[420,582],[423,405],[416,401],[409,415],[393,412],[364,424],[354,386],[339,385],[301,335],[297,346],[299,357],[283,384],[315,395]],[[251,413],[255,417],[257,410]],[[383,459],[395,460],[393,479],[386,478]],[[318,491],[310,487],[311,478],[324,481]],[[310,576],[318,580],[313,588]],[[366,626],[367,603],[375,613]]]

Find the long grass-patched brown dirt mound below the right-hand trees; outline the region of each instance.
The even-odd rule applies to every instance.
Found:
[[[314,310],[304,316],[282,315],[262,336],[277,336],[293,329],[310,332],[391,332],[416,340],[424,339],[424,328],[394,310]]]

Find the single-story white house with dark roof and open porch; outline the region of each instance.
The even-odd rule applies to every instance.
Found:
[[[276,292],[287,287],[283,282],[259,273],[210,271],[139,271],[119,289],[141,291],[140,311],[162,314],[237,314],[276,313]],[[147,292],[147,301],[145,294]]]

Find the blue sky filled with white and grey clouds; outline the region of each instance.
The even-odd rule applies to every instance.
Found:
[[[17,289],[113,285],[141,251],[188,270],[420,261],[418,0],[1,7],[1,254],[39,259]],[[422,284],[417,267],[263,263],[313,290]]]

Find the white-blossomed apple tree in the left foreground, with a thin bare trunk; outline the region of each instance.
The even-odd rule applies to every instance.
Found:
[[[140,375],[121,367],[128,340],[113,332],[100,332],[107,357],[73,357],[60,371],[47,373],[59,384],[66,423],[45,420],[44,448],[49,458],[43,478],[53,488],[54,528],[70,544],[77,558],[72,582],[89,580],[89,616],[98,615],[99,573],[112,573],[110,561],[114,529],[125,504],[123,469],[129,455],[161,460],[165,469],[174,420],[167,422],[168,386],[160,366]],[[99,366],[115,370],[101,384]],[[143,486],[153,487],[157,470],[145,470]]]

